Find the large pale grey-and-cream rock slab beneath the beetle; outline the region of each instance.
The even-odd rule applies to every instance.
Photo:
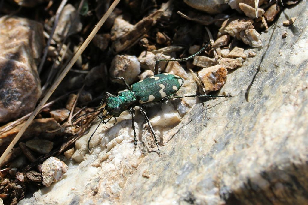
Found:
[[[220,94],[232,98],[197,103],[165,128],[171,138],[160,143],[160,157],[140,142],[152,139],[139,135],[141,127],[133,154],[125,112],[114,126],[99,128],[91,154],[86,142],[95,127],[76,142],[73,158],[82,162],[70,163],[65,179],[19,204],[307,204],[306,7],[302,1],[286,9],[278,25],[297,18],[287,37],[281,38],[285,28],[272,26],[261,34],[257,55],[229,73]],[[157,109],[150,109],[150,119]],[[137,111],[136,125],[144,123]]]

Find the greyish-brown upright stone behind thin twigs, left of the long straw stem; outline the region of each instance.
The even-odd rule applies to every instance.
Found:
[[[55,34],[52,38],[59,42],[64,37],[78,33],[81,29],[82,23],[80,22],[78,11],[73,5],[67,4],[61,12]]]

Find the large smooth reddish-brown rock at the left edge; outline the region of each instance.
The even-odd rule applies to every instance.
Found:
[[[0,18],[0,122],[35,108],[41,85],[34,58],[40,57],[42,46],[40,23],[18,17]]]

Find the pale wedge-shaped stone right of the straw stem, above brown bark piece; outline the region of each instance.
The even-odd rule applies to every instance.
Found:
[[[115,18],[113,26],[111,28],[111,40],[114,41],[118,37],[122,36],[123,34],[131,31],[134,29],[134,25],[130,24],[129,22],[122,19],[122,16],[118,16]]]

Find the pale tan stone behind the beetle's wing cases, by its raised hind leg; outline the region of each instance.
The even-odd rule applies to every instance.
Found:
[[[155,64],[157,60],[164,60],[164,59],[170,59],[171,57],[162,53],[152,53],[150,51],[142,51],[140,56],[138,57],[138,60],[140,62],[140,66],[143,69],[151,69],[154,71]],[[164,71],[166,65],[168,62],[160,62],[159,63],[159,68],[160,71]]]

